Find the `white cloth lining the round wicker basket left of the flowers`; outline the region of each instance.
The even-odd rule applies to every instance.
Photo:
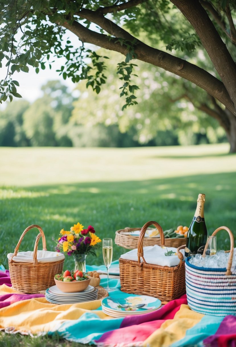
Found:
[[[17,256],[14,256],[12,260],[24,263],[33,263],[33,253],[32,251],[18,252]],[[8,259],[11,259],[13,253],[8,253]],[[64,254],[51,251],[37,251],[37,261],[38,263],[51,263],[53,261],[59,261],[65,259]]]

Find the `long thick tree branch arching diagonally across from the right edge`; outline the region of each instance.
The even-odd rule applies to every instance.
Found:
[[[117,40],[115,37],[109,37],[104,34],[93,32],[76,21],[74,21],[72,24],[64,22],[61,25],[78,36],[82,42],[91,43],[108,50],[116,51],[124,54],[125,56],[128,53],[127,47],[125,45],[121,45],[119,40]],[[130,36],[133,40],[135,39],[132,35]],[[203,88],[236,115],[236,110],[229,98],[224,84],[207,71],[183,59],[174,57],[167,52],[152,48],[140,41],[138,41],[137,45],[135,45],[134,52],[137,59],[161,67],[174,73],[175,75],[186,78],[188,81],[191,81]]]

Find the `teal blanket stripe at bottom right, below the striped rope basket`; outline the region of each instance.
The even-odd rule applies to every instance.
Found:
[[[182,340],[174,342],[170,347],[203,346],[202,341],[217,332],[223,319],[224,317],[203,316],[199,323],[186,331]]]

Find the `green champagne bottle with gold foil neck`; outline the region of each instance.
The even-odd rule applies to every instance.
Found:
[[[187,234],[185,247],[185,256],[187,257],[190,255],[195,255],[196,253],[202,254],[204,246],[207,242],[207,227],[204,219],[204,203],[205,194],[199,194],[196,212]]]

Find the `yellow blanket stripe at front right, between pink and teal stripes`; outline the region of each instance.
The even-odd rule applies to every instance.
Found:
[[[143,346],[170,346],[185,337],[186,331],[196,325],[204,314],[190,310],[188,305],[181,305],[173,319],[166,320],[159,329],[152,333]]]

